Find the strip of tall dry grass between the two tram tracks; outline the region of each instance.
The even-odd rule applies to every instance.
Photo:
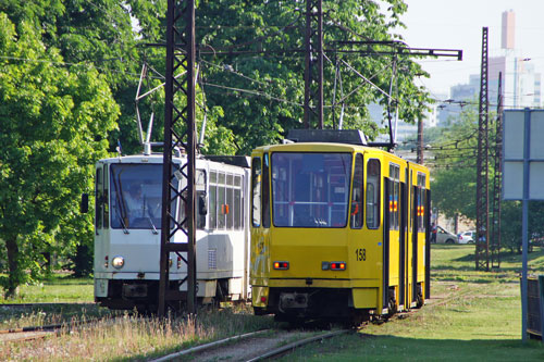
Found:
[[[44,340],[0,345],[0,361],[144,361],[273,325],[247,305],[200,311],[198,319],[143,319],[125,313]]]

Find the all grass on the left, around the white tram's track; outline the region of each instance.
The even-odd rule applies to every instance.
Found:
[[[37,302],[57,304],[2,305]],[[71,321],[97,317],[103,320],[72,332],[66,329],[44,340],[0,342],[0,361],[143,361],[273,325],[272,317],[255,316],[248,305],[211,312],[202,309],[197,320],[171,317],[163,321],[143,319],[136,313],[111,312],[94,303],[92,279],[75,279],[66,275],[55,275],[40,285],[22,286],[16,299],[0,302],[0,329],[70,324]]]

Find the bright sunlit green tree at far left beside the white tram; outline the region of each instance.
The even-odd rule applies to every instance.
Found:
[[[8,258],[9,276],[1,279],[7,296],[25,279],[25,270],[38,271],[40,252],[70,249],[91,236],[77,200],[92,187],[92,163],[107,154],[107,136],[119,116],[104,77],[91,65],[63,63],[59,50],[40,38],[30,23],[23,21],[15,30],[0,13],[0,238]]]

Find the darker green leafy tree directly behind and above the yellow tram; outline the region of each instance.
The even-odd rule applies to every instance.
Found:
[[[326,49],[336,40],[393,40],[401,26],[400,15],[406,4],[400,0],[386,1],[390,8],[382,12],[374,1],[324,1],[324,43]],[[249,151],[264,143],[277,142],[289,128],[302,127],[305,3],[283,1],[200,1],[197,9],[197,42],[201,45],[199,62],[205,76],[205,91],[209,104],[224,109],[219,123],[235,135],[237,152]],[[223,51],[264,51],[263,53],[218,54]],[[206,54],[208,52],[208,54]],[[392,58],[334,54],[345,60],[376,84],[388,90],[392,77]],[[421,116],[426,92],[413,84],[416,73],[423,73],[410,59],[399,60],[403,72],[398,78],[400,117],[413,122]],[[366,105],[385,104],[382,93],[343,65],[345,93],[362,85],[346,99],[345,128],[366,132],[371,139],[383,125],[375,125]],[[332,128],[335,65],[325,61],[325,127]],[[339,98],[339,96],[338,96]],[[335,118],[339,108],[335,109]]]

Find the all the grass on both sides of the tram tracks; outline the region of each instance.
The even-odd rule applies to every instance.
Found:
[[[370,324],[358,334],[309,346],[284,360],[544,360],[544,348],[540,342],[530,340],[527,345],[521,344],[520,255],[502,255],[498,271],[477,272],[473,248],[433,246],[432,300],[408,319],[395,319],[382,325]],[[529,260],[530,273],[544,273],[544,250],[536,249],[530,253]],[[82,289],[78,290],[79,287]],[[74,296],[70,295],[70,290],[74,291]],[[91,280],[55,278],[44,283],[44,286],[25,286],[22,292],[25,296],[23,302],[85,302],[92,298],[92,285]],[[90,304],[63,304],[60,308],[63,310],[41,308],[8,315],[0,305],[0,323],[13,327],[70,321],[82,315],[90,319],[109,313]],[[198,344],[273,326],[270,316],[255,316],[247,305],[221,311],[202,310],[197,320],[146,320],[124,313],[121,314],[121,322],[113,323],[114,314],[110,315],[88,327],[44,340],[0,344],[0,360],[144,361]]]

